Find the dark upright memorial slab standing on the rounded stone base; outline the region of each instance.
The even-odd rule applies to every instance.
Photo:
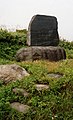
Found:
[[[27,36],[29,46],[57,46],[59,43],[57,18],[46,15],[33,16]]]

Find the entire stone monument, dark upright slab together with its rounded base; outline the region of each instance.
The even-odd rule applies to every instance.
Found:
[[[30,47],[20,49],[17,61],[66,59],[65,50],[58,47],[58,22],[54,16],[35,15],[28,27],[27,44]]]

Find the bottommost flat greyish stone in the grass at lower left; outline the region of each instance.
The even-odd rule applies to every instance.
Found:
[[[10,104],[10,106],[11,106],[11,108],[13,108],[19,112],[22,112],[22,113],[27,113],[30,108],[28,105],[24,105],[19,102],[13,102]]]

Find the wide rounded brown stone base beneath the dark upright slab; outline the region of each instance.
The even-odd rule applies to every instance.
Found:
[[[17,61],[26,60],[49,60],[49,61],[59,61],[66,59],[65,50],[61,47],[27,47],[21,48],[16,54]]]

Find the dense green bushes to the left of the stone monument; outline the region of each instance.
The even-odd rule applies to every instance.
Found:
[[[16,51],[25,47],[25,31],[9,33],[7,30],[0,30],[0,58],[14,60]]]

